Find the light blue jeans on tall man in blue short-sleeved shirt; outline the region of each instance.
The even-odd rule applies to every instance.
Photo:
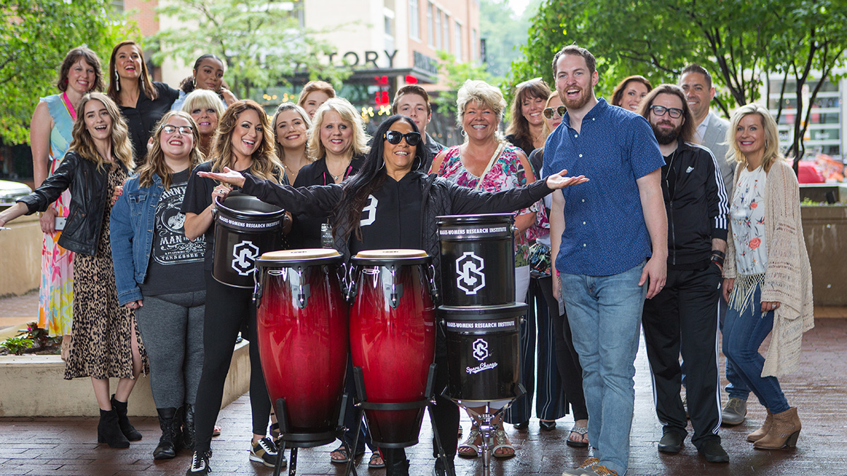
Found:
[[[588,437],[600,464],[623,476],[635,402],[635,353],[647,285],[645,262],[621,274],[564,274],[562,299],[583,368]]]

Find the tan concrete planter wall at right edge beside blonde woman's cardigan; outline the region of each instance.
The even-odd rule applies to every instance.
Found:
[[[815,306],[847,306],[847,204],[802,206]]]

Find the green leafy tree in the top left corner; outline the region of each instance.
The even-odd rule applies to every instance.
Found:
[[[3,0],[0,15],[0,139],[8,144],[29,143],[32,111],[58,92],[70,48],[86,44],[106,68],[113,45],[137,37],[110,0]]]

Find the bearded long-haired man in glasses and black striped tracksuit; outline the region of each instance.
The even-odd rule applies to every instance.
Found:
[[[728,201],[717,160],[692,143],[695,121],[679,86],[656,87],[639,113],[650,122],[667,165],[662,194],[667,208],[667,282],[644,304],[644,339],[656,415],[662,422],[658,450],[678,453],[688,422],[679,398],[686,369],[691,443],[707,462],[728,462],[721,426],[717,375],[717,299],[727,250]]]

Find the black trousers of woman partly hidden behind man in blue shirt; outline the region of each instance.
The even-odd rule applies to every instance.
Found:
[[[562,377],[565,397],[571,404],[573,419],[587,420],[588,410],[585,408],[582,388],[582,366],[579,365],[579,355],[573,348],[573,335],[571,335],[571,326],[567,323],[567,313],[559,315],[559,302],[553,296],[553,279],[540,278],[538,284],[541,292],[544,293],[547,309],[553,321],[553,332],[556,334],[556,367]]]

